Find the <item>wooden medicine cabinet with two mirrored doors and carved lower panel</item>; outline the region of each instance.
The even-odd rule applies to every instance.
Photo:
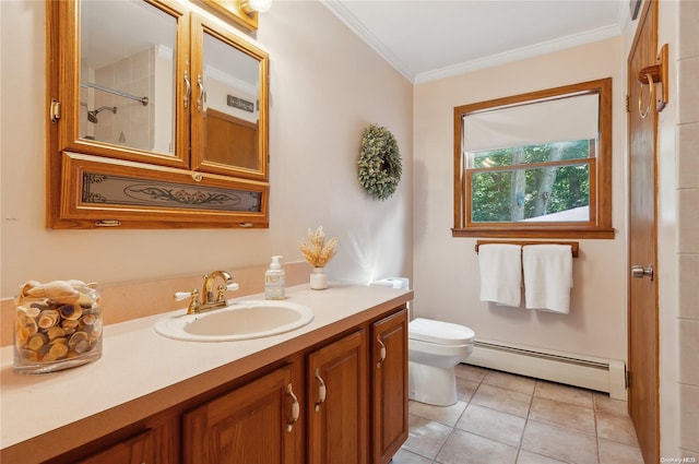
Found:
[[[48,226],[266,227],[268,53],[186,1],[46,4]]]

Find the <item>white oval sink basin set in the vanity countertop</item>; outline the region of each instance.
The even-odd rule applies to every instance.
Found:
[[[249,300],[198,314],[167,316],[155,323],[155,332],[191,342],[230,342],[291,332],[312,320],[312,311],[303,305]]]

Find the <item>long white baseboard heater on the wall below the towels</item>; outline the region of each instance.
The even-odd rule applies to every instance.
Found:
[[[619,359],[476,340],[464,362],[605,392],[626,401],[626,362]]]

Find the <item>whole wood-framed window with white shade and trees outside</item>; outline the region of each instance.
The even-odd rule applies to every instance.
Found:
[[[454,237],[614,238],[612,79],[454,108]]]

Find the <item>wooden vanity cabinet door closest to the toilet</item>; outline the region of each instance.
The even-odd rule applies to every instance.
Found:
[[[407,439],[407,310],[371,326],[374,463],[384,464]]]

